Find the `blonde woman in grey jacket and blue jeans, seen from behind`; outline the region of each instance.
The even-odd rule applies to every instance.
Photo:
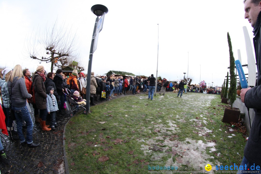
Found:
[[[14,111],[17,125],[17,132],[20,143],[27,142],[28,147],[37,147],[40,144],[33,142],[33,121],[26,106],[27,99],[31,99],[32,95],[27,92],[25,85],[25,77],[21,65],[15,65],[13,73],[11,74],[7,83],[12,105],[11,109]],[[22,131],[22,119],[26,122],[26,140]]]

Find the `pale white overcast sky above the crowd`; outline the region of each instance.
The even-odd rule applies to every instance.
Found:
[[[229,67],[229,32],[235,59],[241,51],[242,64],[247,64],[243,26],[252,40],[250,23],[244,19],[244,4],[229,1],[0,1],[1,66],[35,71],[39,64],[27,52],[28,37],[40,28],[63,22],[72,26],[78,36],[79,52],[88,68],[88,58],[96,16],[92,5],[108,9],[93,54],[92,71],[105,74],[109,70],[135,75],[158,76],[168,80],[181,79],[188,73],[192,83],[205,80],[221,86]],[[43,55],[45,56],[45,55]],[[200,73],[201,65],[201,73]],[[247,69],[244,69],[247,73]],[[186,74],[187,77],[187,74]]]

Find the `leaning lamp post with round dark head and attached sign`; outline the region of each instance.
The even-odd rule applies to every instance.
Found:
[[[93,56],[93,52],[96,50],[98,34],[102,29],[101,23],[103,23],[103,19],[102,19],[102,21],[100,21],[99,19],[101,19],[103,17],[102,15],[108,13],[108,8],[105,7],[104,5],[96,4],[96,5],[93,5],[91,7],[91,11],[97,17],[96,17],[96,20],[95,20],[94,29],[93,29],[93,33],[92,33],[92,42],[91,42],[89,63],[88,63],[88,72],[87,72],[87,86],[86,86],[86,100],[87,100],[86,111],[87,111],[87,113],[90,113],[90,88],[91,88],[92,56]],[[102,16],[102,17],[99,18],[99,16]],[[100,22],[98,23],[98,21],[100,21]],[[94,43],[94,40],[96,40],[96,43]]]

